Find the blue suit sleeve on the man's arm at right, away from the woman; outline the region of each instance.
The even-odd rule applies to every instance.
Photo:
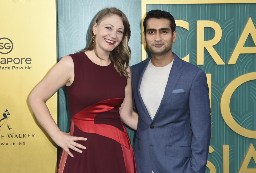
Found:
[[[203,70],[194,77],[189,95],[189,111],[193,132],[191,168],[193,172],[204,173],[210,145],[211,115],[209,88]]]

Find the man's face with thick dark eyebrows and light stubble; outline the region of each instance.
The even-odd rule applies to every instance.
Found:
[[[144,31],[144,43],[151,54],[164,54],[171,51],[176,41],[176,31],[171,33],[170,20],[150,18]]]

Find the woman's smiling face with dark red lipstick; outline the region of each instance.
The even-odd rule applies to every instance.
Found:
[[[95,36],[98,53],[109,53],[122,41],[123,31],[122,18],[117,15],[105,17],[100,23],[95,23],[93,33]]]

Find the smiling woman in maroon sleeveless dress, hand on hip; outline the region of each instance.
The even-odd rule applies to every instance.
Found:
[[[62,148],[57,172],[136,172],[133,150],[120,120],[137,129],[130,34],[122,11],[103,9],[93,22],[85,51],[64,56],[31,92],[29,103],[38,122]],[[60,131],[45,104],[62,86],[69,98],[70,133]]]

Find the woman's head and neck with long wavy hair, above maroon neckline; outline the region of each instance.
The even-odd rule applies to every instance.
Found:
[[[130,36],[130,24],[125,14],[116,8],[103,9],[93,21],[89,34],[89,46],[85,48],[84,52],[90,54],[90,51],[93,50],[98,58],[92,57],[90,59],[98,63],[104,57],[109,58],[114,63],[117,72],[127,78],[126,69],[129,66],[131,55],[128,46]],[[105,62],[105,65],[109,63]]]

